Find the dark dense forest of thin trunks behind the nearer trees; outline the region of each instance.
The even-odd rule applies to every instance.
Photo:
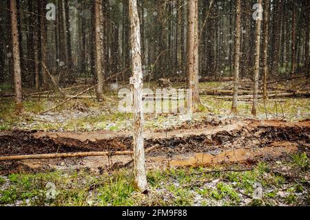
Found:
[[[145,80],[186,77],[186,2],[138,0]],[[56,5],[55,21],[45,19],[48,3]],[[241,77],[253,78],[255,3],[242,1]],[[269,78],[304,74],[309,70],[309,1],[270,1],[268,10]],[[131,75],[128,3],[103,0],[102,11],[104,77],[126,70],[118,80],[127,80]],[[96,80],[94,1],[18,0],[17,12],[23,87],[50,86],[38,61],[62,87],[78,77]],[[0,2],[0,14],[0,83],[14,85],[10,1]],[[198,19],[200,76],[233,76],[236,2],[199,1]]]

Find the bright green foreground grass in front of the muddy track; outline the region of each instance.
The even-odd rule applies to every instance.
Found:
[[[149,195],[136,191],[132,171],[125,169],[101,175],[89,170],[11,174],[8,179],[9,186],[0,190],[0,205],[19,201],[19,206],[192,206],[198,194],[203,198],[201,206],[212,204],[212,201],[223,206],[237,206],[242,201],[240,190],[251,196],[256,183],[262,185],[264,195],[260,201],[252,201],[249,205],[273,204],[275,199],[280,199],[278,191],[287,186],[287,196],[281,201],[296,205],[301,202],[296,192],[307,190],[301,180],[276,175],[265,163],[243,172],[205,173],[202,167],[149,170]],[[218,180],[216,184],[205,185],[214,179]],[[289,180],[293,181],[287,185]],[[0,187],[4,182],[5,179],[0,178]],[[45,197],[48,182],[56,186],[55,199]],[[306,197],[304,195],[304,201]]]

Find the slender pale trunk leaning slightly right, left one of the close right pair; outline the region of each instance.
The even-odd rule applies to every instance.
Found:
[[[262,5],[262,0],[258,0],[258,3]],[[255,54],[255,65],[254,65],[254,95],[253,95],[253,107],[252,115],[256,117],[257,115],[257,95],[258,95],[258,78],[260,74],[260,29],[262,21],[258,19],[256,21],[256,31],[255,31],[255,44],[256,44],[256,54]]]

